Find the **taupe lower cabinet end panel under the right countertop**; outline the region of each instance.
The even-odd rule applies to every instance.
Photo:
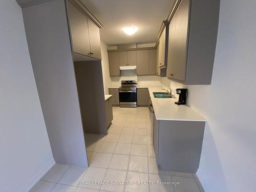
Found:
[[[153,144],[161,170],[195,174],[199,167],[204,121],[157,120]]]

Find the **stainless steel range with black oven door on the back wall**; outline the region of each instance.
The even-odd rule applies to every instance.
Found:
[[[119,88],[119,104],[121,108],[137,107],[137,81],[127,80],[121,82]]]

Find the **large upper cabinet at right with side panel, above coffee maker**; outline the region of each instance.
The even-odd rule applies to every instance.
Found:
[[[167,77],[183,84],[210,84],[220,1],[182,0],[170,20]]]

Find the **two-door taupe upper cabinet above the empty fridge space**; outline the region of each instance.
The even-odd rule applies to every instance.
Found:
[[[71,45],[76,57],[75,61],[91,57],[101,59],[99,27],[80,9],[77,1],[67,1],[67,14],[71,33]]]

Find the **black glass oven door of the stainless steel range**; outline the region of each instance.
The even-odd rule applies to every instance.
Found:
[[[136,90],[119,90],[120,107],[136,107],[137,91]]]

